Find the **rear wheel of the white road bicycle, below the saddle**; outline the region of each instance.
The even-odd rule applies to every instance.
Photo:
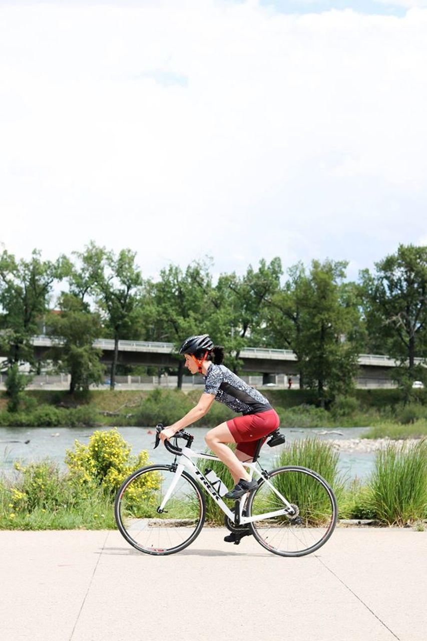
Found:
[[[278,511],[282,513],[274,515]],[[328,483],[299,466],[272,470],[247,500],[247,515],[256,518],[249,523],[254,537],[280,556],[304,556],[319,549],[333,533],[337,513],[337,501]],[[265,514],[271,516],[262,518]]]

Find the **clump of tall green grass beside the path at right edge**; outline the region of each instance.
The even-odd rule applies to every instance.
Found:
[[[404,526],[427,518],[427,440],[415,445],[387,445],[376,453],[369,480],[376,518]]]

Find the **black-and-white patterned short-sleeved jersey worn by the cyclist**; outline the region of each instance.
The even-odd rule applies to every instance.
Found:
[[[258,414],[268,412],[271,405],[253,387],[225,365],[210,365],[205,378],[205,394],[215,394],[215,401],[228,405],[234,412]]]

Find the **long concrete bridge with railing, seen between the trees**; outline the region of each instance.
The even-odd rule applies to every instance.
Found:
[[[55,344],[51,338],[36,336],[32,339],[37,358],[48,358],[49,349]],[[94,342],[94,347],[102,351],[101,360],[105,363],[112,362],[114,341],[109,338],[99,338]],[[152,365],[155,367],[176,367],[178,354],[174,352],[172,343],[147,342],[138,340],[119,341],[119,363],[123,365]],[[269,375],[287,374],[296,376],[298,362],[296,355],[290,349],[268,349],[264,347],[246,347],[240,352],[243,362],[243,372],[261,372],[265,383]],[[415,359],[423,362],[423,359]],[[360,354],[359,381],[389,379],[390,369],[398,363],[389,356],[382,354]]]

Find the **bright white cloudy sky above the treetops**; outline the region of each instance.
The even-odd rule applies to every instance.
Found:
[[[427,0],[0,0],[0,243],[355,278],[427,244],[426,69]]]

